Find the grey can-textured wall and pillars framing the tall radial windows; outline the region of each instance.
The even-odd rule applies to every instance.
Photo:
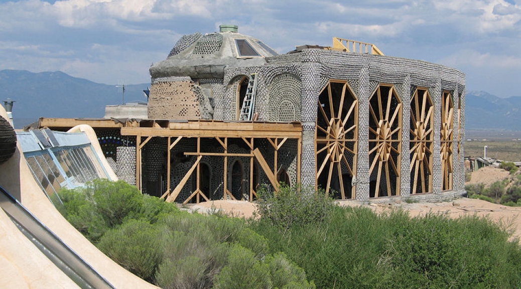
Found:
[[[257,103],[255,110],[261,115],[261,120],[281,120],[280,110],[272,105],[275,97],[278,97],[284,87],[296,87],[300,85],[302,134],[302,168],[301,182],[304,185],[315,183],[315,123],[317,117],[317,100],[319,92],[329,80],[345,80],[353,89],[358,99],[358,143],[357,143],[357,167],[353,185],[356,187],[356,199],[367,202],[369,200],[369,156],[368,156],[368,123],[369,123],[369,98],[375,92],[379,84],[392,84],[398,93],[402,103],[402,152],[400,195],[410,196],[410,154],[409,126],[410,126],[410,98],[412,87],[426,87],[431,95],[434,105],[435,122],[433,131],[433,194],[415,195],[416,198],[438,199],[447,194],[462,194],[464,192],[464,166],[463,153],[457,154],[457,135],[463,142],[464,127],[457,125],[458,95],[461,95],[462,113],[461,120],[464,123],[464,89],[465,76],[462,72],[436,65],[429,62],[368,54],[342,53],[325,51],[321,49],[308,49],[302,53],[279,55],[267,59],[267,65],[258,67],[233,68],[225,71],[224,83],[229,83],[222,98],[222,103],[227,106],[223,109],[223,119],[235,119],[237,110],[237,85],[238,76],[248,76],[250,73],[259,73],[259,89],[257,90]],[[293,81],[289,81],[288,73],[293,75]],[[279,80],[284,81],[279,81]],[[289,82],[289,83],[286,83]],[[299,83],[300,82],[300,83]],[[454,188],[450,192],[441,192],[441,158],[440,158],[440,124],[441,124],[441,95],[443,90],[451,91],[454,102]],[[287,93],[287,94],[293,94]],[[286,95],[287,95],[286,94]],[[290,107],[290,106],[288,106]],[[289,118],[297,113],[287,112]],[[269,116],[269,117],[266,117]],[[372,200],[371,200],[372,202]]]

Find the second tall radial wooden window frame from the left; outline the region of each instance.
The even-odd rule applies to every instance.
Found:
[[[399,195],[402,104],[393,85],[378,86],[369,98],[369,115],[369,174],[376,177],[370,196]]]

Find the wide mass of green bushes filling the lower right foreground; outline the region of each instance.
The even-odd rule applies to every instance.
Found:
[[[251,228],[287,254],[318,288],[518,287],[517,240],[487,219],[414,218],[336,207],[328,222],[282,234],[259,220]],[[480,253],[483,252],[483,253]],[[508,272],[508,273],[505,273]]]

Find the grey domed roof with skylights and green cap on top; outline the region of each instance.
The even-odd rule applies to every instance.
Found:
[[[151,77],[223,78],[224,67],[262,65],[265,57],[278,55],[264,42],[239,33],[237,26],[219,29],[183,35],[167,59],[150,68]]]

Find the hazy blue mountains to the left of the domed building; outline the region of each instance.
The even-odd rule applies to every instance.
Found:
[[[61,71],[0,70],[0,101],[15,100],[17,129],[40,117],[101,118],[106,105],[123,102],[123,89],[116,85],[71,77]],[[125,84],[125,102],[146,102],[143,90],[148,86],[150,83]]]

